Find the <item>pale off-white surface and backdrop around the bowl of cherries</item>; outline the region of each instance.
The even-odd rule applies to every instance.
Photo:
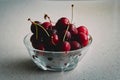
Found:
[[[60,17],[85,25],[93,37],[91,48],[78,66],[69,72],[40,70],[30,59],[23,38],[30,22],[47,13],[52,21]],[[0,0],[0,80],[120,80],[120,1]]]

